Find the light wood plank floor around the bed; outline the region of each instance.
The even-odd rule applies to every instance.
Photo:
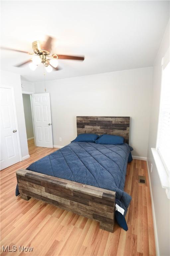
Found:
[[[125,191],[132,196],[126,220],[128,231],[115,223],[114,233],[99,229],[98,222],[31,198],[15,197],[16,170],[56,149],[35,147],[30,140],[30,158],[1,171],[1,250],[17,246],[16,252],[1,255],[155,255],[154,231],[147,166],[145,161],[128,164]],[[146,176],[146,185],[138,183]],[[34,247],[19,252],[18,246]]]

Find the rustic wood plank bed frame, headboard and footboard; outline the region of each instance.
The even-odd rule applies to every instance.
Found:
[[[77,135],[80,133],[123,136],[128,143],[129,117],[77,117]],[[56,205],[100,223],[100,228],[113,232],[116,192],[78,182],[33,172],[16,172],[21,198],[31,197]]]

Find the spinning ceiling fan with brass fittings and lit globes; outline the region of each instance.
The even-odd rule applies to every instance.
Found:
[[[30,69],[35,70],[39,64],[43,63],[47,72],[51,72],[52,70],[57,71],[61,69],[58,67],[57,59],[84,60],[83,56],[60,55],[56,53],[50,55],[51,48],[52,48],[52,41],[53,41],[53,37],[50,37],[50,36],[47,36],[47,39],[45,42],[34,41],[32,43],[33,52],[11,49],[7,47],[1,47],[1,49],[11,50],[16,52],[23,52],[23,53],[33,55],[31,59],[25,62],[22,62],[18,65],[15,65],[15,67],[22,67],[23,65],[29,63]]]

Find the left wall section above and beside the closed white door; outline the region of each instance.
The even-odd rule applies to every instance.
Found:
[[[11,86],[14,88],[21,152],[22,152],[22,157],[25,157],[29,155],[29,153],[28,153],[27,134],[26,134],[26,127],[25,127],[25,119],[24,119],[24,108],[23,108],[20,75],[1,70],[1,85]]]

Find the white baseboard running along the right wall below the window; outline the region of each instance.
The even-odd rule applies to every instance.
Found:
[[[159,253],[159,244],[158,244],[158,233],[156,228],[156,217],[155,217],[155,209],[153,204],[153,195],[152,195],[152,187],[151,187],[151,181],[150,181],[150,173],[149,173],[149,166],[147,163],[147,171],[148,171],[148,177],[149,177],[149,188],[150,188],[150,197],[151,197],[151,205],[152,205],[152,217],[153,217],[153,228],[154,228],[154,237],[155,237],[155,247],[156,247],[156,255],[160,255]]]

